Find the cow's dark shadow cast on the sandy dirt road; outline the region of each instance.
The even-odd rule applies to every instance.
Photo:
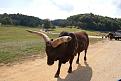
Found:
[[[77,69],[69,73],[64,79],[58,78],[57,81],[90,81],[92,77],[92,68],[84,62],[85,66],[78,65]]]

